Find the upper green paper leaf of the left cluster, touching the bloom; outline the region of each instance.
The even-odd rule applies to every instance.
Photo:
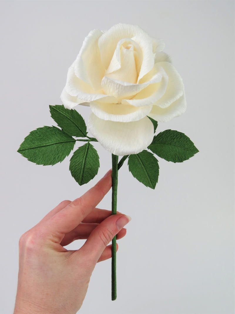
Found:
[[[76,137],[86,137],[86,123],[76,110],[66,109],[63,105],[49,107],[51,117],[65,133]]]

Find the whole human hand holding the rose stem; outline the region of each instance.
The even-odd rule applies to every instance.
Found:
[[[76,313],[97,262],[112,256],[111,245],[126,234],[130,217],[96,208],[112,186],[112,171],[83,196],[63,201],[19,241],[18,288],[14,314]],[[63,246],[87,239],[75,251]]]

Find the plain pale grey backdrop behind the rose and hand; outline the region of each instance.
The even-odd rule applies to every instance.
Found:
[[[1,314],[13,312],[21,234],[111,168],[111,154],[95,143],[98,175],[80,187],[69,172],[71,155],[36,166],[17,149],[30,131],[55,125],[49,105],[61,104],[67,70],[89,31],[120,22],[165,41],[188,109],[159,123],[158,132],[183,132],[200,152],[179,164],[159,158],[155,190],[125,162],[118,210],[132,221],[119,241],[118,297],[111,301],[111,261],[99,263],[79,312],[234,313],[234,2],[1,1]],[[87,122],[90,108],[76,108]],[[111,192],[99,206],[111,208]]]

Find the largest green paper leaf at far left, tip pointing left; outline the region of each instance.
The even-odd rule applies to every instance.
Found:
[[[70,154],[75,143],[57,127],[39,127],[29,133],[18,152],[37,165],[55,165]]]

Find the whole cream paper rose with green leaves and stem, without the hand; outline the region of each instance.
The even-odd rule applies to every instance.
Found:
[[[178,163],[198,152],[184,133],[165,130],[154,135],[158,122],[168,122],[186,110],[183,81],[164,47],[163,41],[135,25],[91,31],[68,70],[60,96],[63,105],[50,106],[58,127],[30,132],[18,152],[35,164],[55,165],[80,142],[69,170],[83,185],[98,173],[99,155],[91,142],[99,142],[112,153],[112,214],[117,213],[118,170],[126,160],[133,177],[154,189],[159,178],[156,156]],[[72,109],[79,104],[90,106],[88,129],[93,137],[87,135],[83,117]],[[116,286],[115,236],[112,300],[117,298]]]

